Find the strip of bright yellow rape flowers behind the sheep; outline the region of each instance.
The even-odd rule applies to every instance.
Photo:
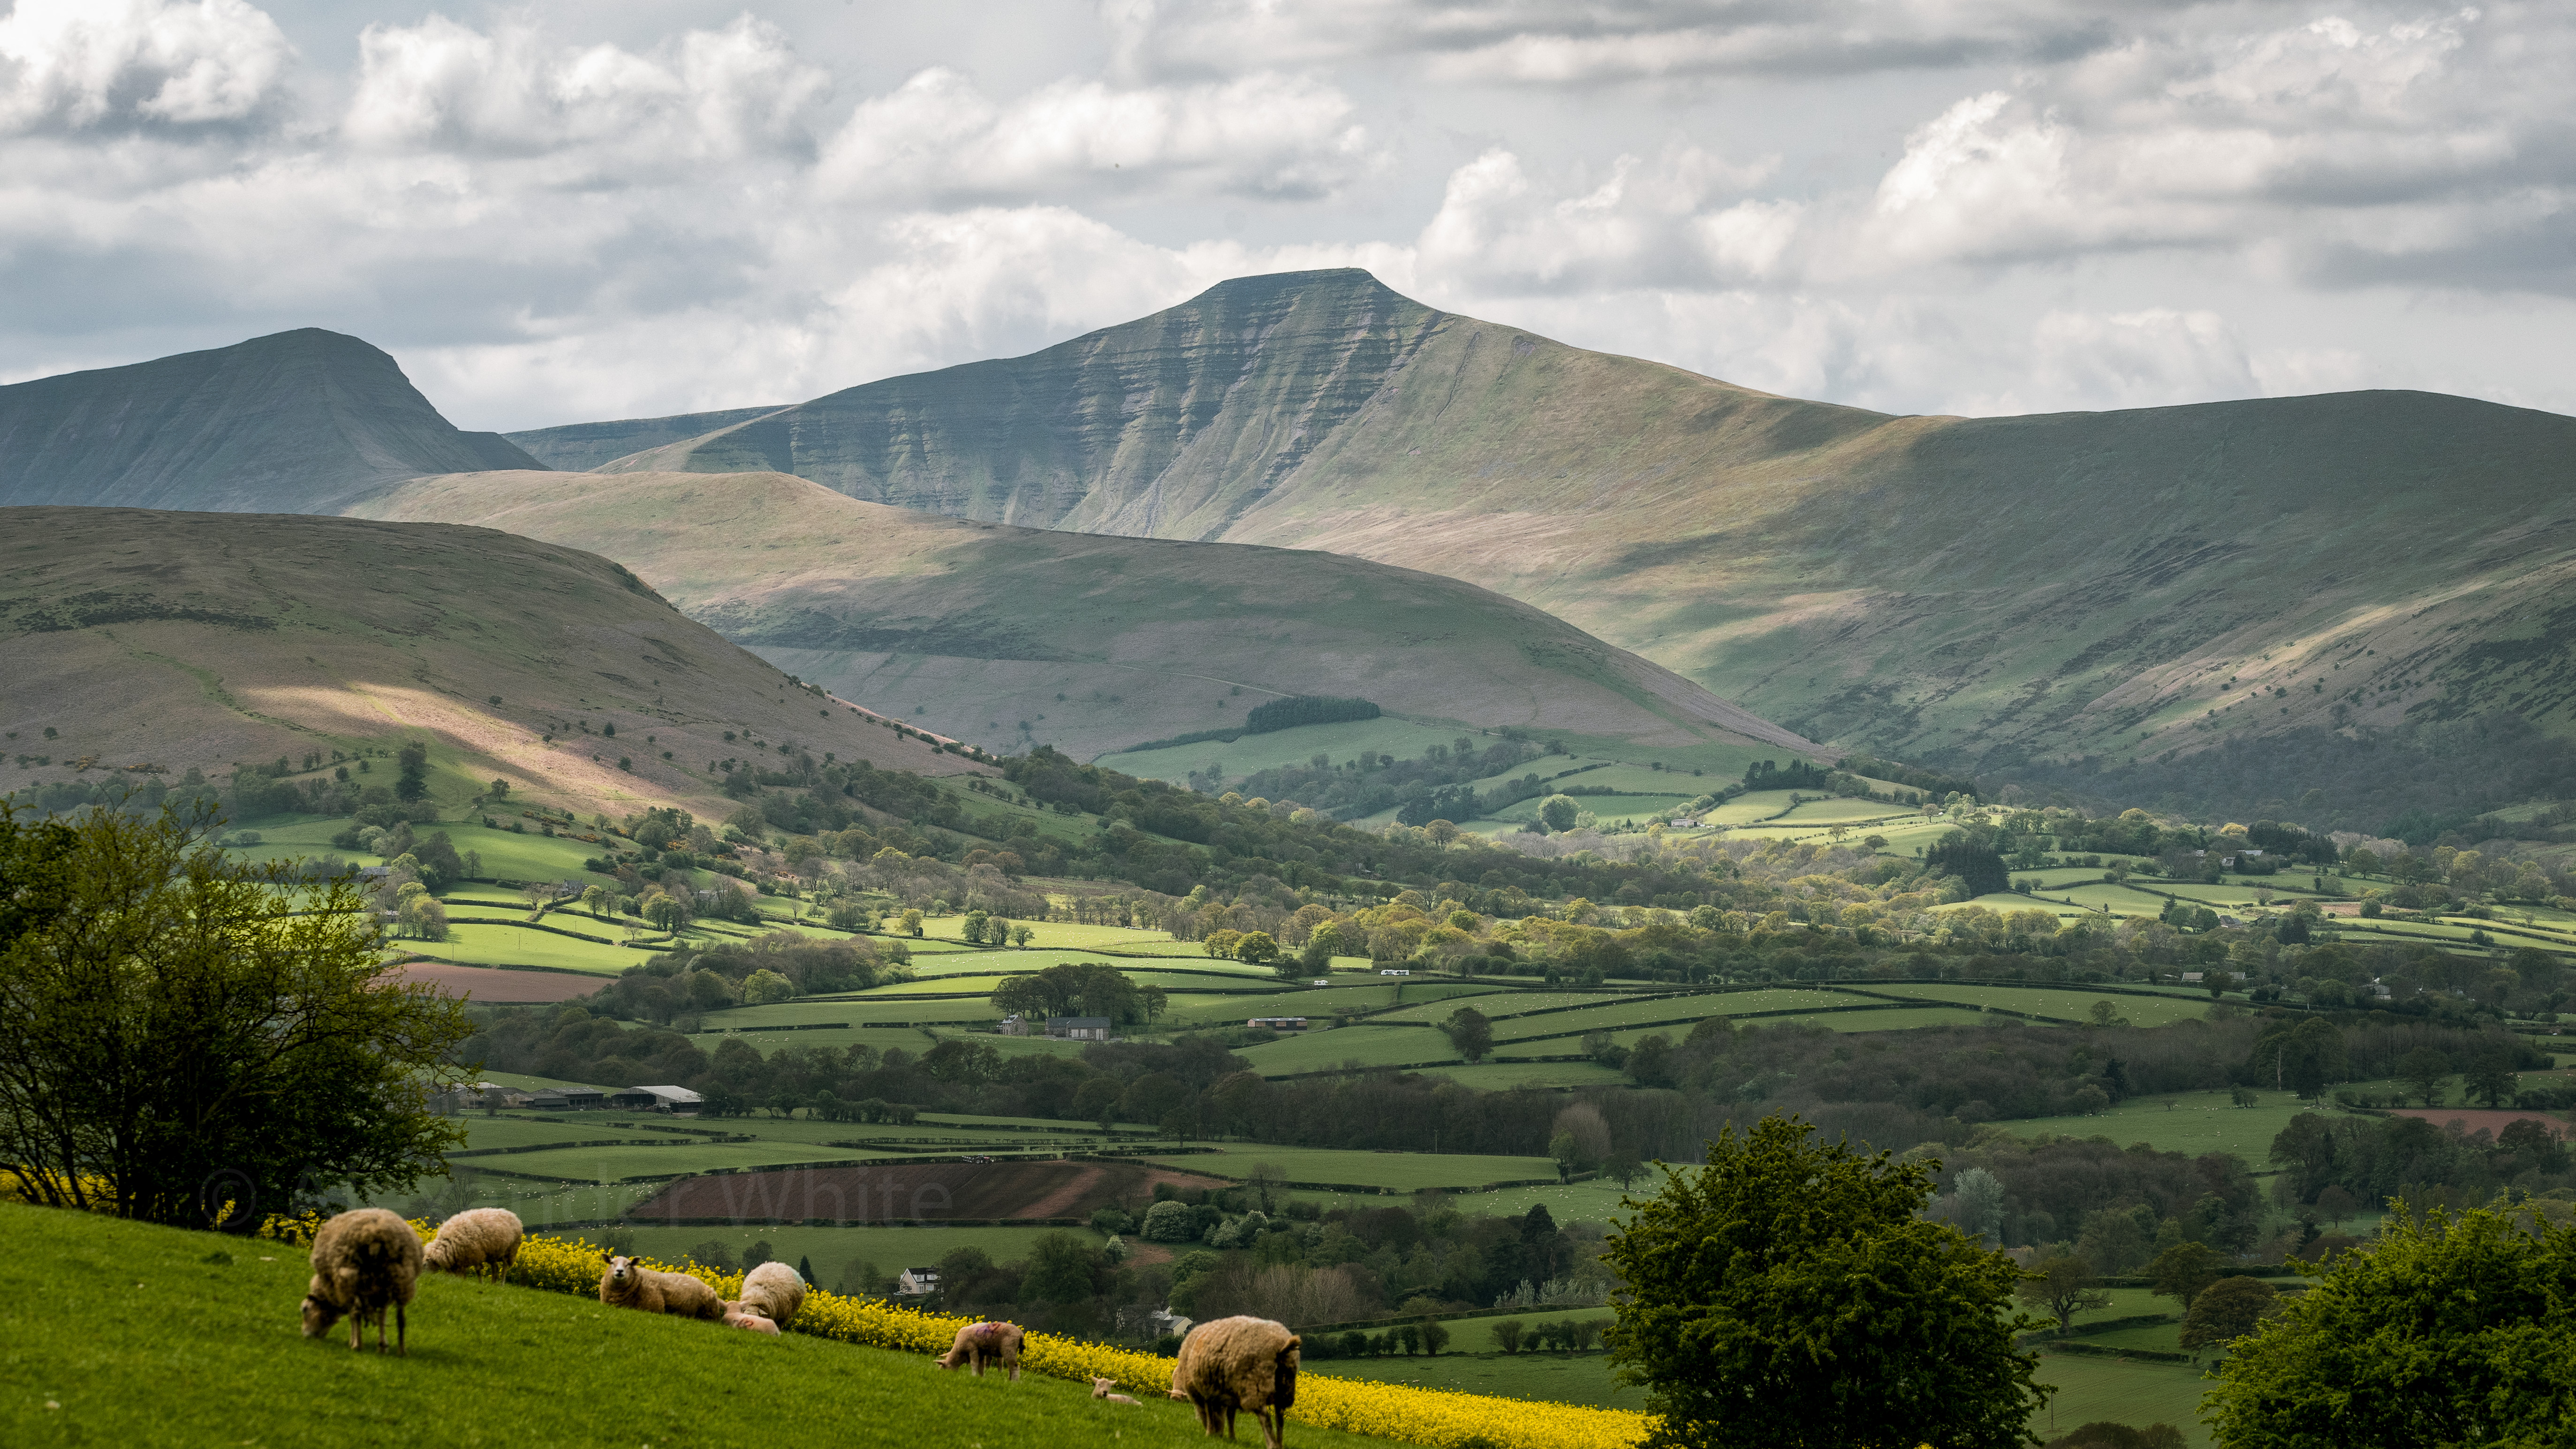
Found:
[[[319,1217],[278,1217],[263,1227],[263,1235],[286,1243],[312,1243],[319,1225]],[[412,1227],[422,1238],[430,1235],[425,1222],[415,1220]],[[690,1274],[724,1297],[742,1294],[742,1274],[724,1274],[698,1263],[654,1263],[649,1258],[647,1266]],[[605,1269],[605,1248],[595,1248],[580,1238],[531,1235],[520,1243],[510,1281],[592,1294]],[[796,1323],[783,1323],[781,1328],[842,1343],[863,1343],[868,1348],[945,1354],[958,1328],[969,1323],[974,1320],[809,1289]],[[1118,1379],[1139,1395],[1162,1395],[1172,1387],[1172,1359],[1082,1338],[1059,1338],[1054,1333],[1030,1333],[1020,1348],[1020,1366],[1051,1379]],[[1654,1418],[1636,1410],[1417,1390],[1329,1374],[1298,1374],[1296,1408],[1288,1410],[1288,1418],[1437,1449],[1455,1449],[1471,1441],[1497,1449],[1628,1449],[1654,1428]]]

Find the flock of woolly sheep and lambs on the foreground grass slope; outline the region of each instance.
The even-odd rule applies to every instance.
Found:
[[[384,1351],[384,1315],[394,1315],[394,1351],[407,1354],[404,1305],[422,1271],[507,1279],[526,1230],[502,1207],[477,1207],[438,1225],[422,1245],[412,1225],[381,1207],[343,1212],[314,1232],[314,1279],[304,1289],[304,1336],[319,1338],[348,1318],[348,1346],[366,1341],[376,1325],[376,1351]],[[634,1258],[608,1258],[600,1274],[600,1302],[677,1318],[703,1318],[752,1333],[778,1333],[804,1307],[804,1279],[786,1263],[760,1263],[742,1279],[742,1297],[724,1299],[690,1274],[665,1274]],[[969,1323],[958,1328],[940,1369],[971,1366],[976,1377],[997,1364],[1020,1379],[1018,1323]],[[1234,1415],[1252,1413],[1262,1426],[1265,1449],[1280,1449],[1288,1408],[1296,1403],[1298,1336],[1267,1318],[1218,1318],[1200,1323],[1180,1343],[1172,1366],[1172,1397],[1188,1400],[1198,1426],[1211,1436],[1224,1428],[1234,1439]],[[1136,1403],[1110,1392],[1118,1379],[1092,1379],[1092,1397]]]

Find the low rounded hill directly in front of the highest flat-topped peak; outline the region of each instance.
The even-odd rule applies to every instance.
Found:
[[[1340,554],[974,523],[778,472],[477,472],[402,482],[353,513],[621,559],[781,668],[997,750],[1095,755],[1242,727],[1291,694],[1705,748],[1731,771],[1811,750],[1538,608]]]

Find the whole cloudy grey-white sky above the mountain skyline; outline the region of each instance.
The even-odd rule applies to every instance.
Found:
[[[1886,413],[2576,413],[2576,5],[0,13],[0,382],[332,327],[513,431],[1319,266]]]

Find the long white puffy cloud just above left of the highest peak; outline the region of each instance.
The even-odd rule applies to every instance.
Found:
[[[997,199],[1188,183],[1319,199],[1373,165],[1352,111],[1332,85],[1270,72],[1126,90],[1061,80],[994,103],[956,70],[933,67],[863,101],[822,173],[840,193]]]

